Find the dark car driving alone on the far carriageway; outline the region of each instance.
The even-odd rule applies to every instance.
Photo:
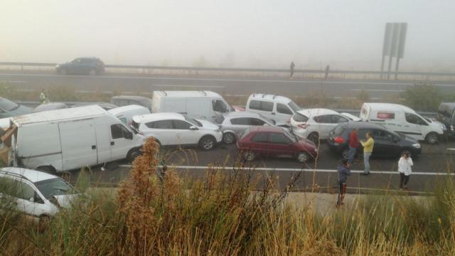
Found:
[[[55,70],[61,75],[100,75],[105,72],[105,63],[99,58],[77,58],[56,65]]]

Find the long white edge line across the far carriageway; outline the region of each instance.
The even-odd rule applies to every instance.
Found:
[[[22,76],[22,77],[55,77],[55,78],[111,78],[111,79],[137,79],[137,80],[194,80],[194,81],[222,81],[222,82],[273,82],[273,83],[294,83],[294,84],[341,84],[341,85],[414,85],[414,82],[366,82],[366,81],[332,81],[332,80],[255,80],[255,79],[225,79],[225,78],[166,78],[166,77],[135,77],[126,75],[45,75],[45,74],[0,74],[0,76]],[[434,84],[435,86],[455,87],[455,84]]]

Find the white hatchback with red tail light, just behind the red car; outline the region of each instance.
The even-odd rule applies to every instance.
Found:
[[[327,139],[331,130],[343,122],[350,122],[350,119],[334,110],[322,108],[299,110],[291,117],[292,132],[315,143],[319,139]]]

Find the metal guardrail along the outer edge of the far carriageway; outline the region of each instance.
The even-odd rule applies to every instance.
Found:
[[[0,62],[4,66],[23,67],[54,67],[57,63],[16,63]],[[220,72],[250,72],[250,73],[289,73],[289,69],[272,68],[196,68],[196,67],[174,67],[174,66],[154,66],[154,65],[105,65],[105,68],[117,69],[141,69],[141,70],[185,70],[185,71],[220,71]],[[320,74],[324,75],[325,70],[294,70],[294,73]],[[432,72],[394,72],[394,71],[373,71],[373,70],[330,70],[330,74],[338,75],[419,75],[419,76],[446,76],[455,77],[455,73],[432,73]]]

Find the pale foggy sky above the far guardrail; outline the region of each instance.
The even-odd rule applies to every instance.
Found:
[[[407,22],[401,70],[454,70],[455,1],[0,0],[0,61],[380,68]]]

